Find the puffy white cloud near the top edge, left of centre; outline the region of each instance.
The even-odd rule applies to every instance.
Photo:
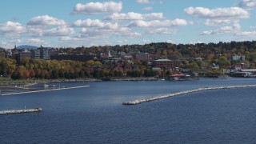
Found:
[[[73,10],[74,14],[101,14],[118,13],[122,10],[122,2],[89,2],[78,3]]]

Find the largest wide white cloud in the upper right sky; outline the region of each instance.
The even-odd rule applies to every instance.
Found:
[[[185,14],[199,18],[249,18],[250,14],[240,7],[217,8],[210,10],[204,7],[188,7]]]

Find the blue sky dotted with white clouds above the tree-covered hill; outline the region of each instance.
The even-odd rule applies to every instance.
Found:
[[[256,0],[1,0],[0,47],[253,41]]]

